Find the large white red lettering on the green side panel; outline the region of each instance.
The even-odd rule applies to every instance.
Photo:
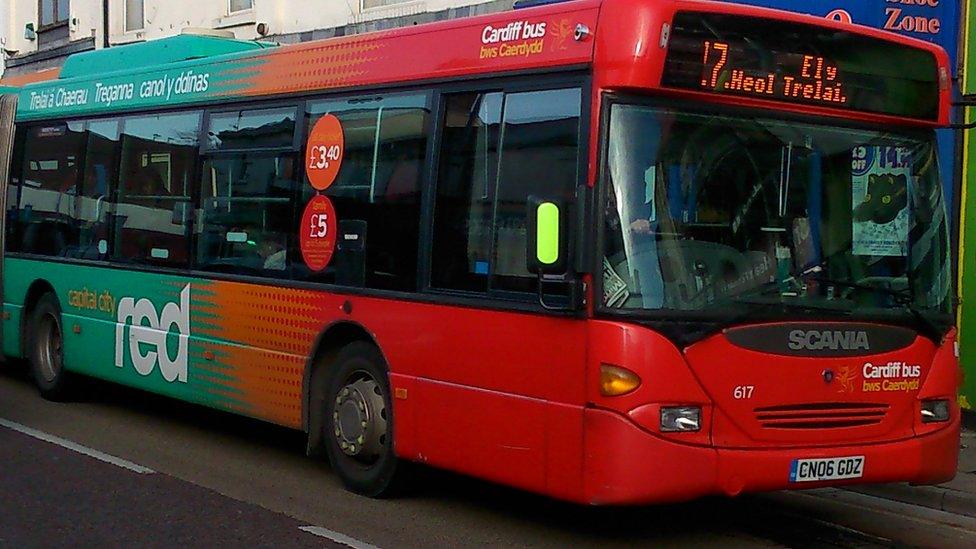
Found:
[[[176,326],[178,340],[176,357],[170,359],[166,340],[170,328]],[[115,325],[115,365],[122,368],[125,332],[129,332],[129,357],[132,366],[144,376],[148,376],[159,364],[159,371],[166,381],[186,383],[187,348],[190,340],[190,285],[180,292],[179,303],[167,303],[163,314],[156,312],[156,306],[146,298],[136,301],[132,297],[119,300],[118,317]],[[141,345],[152,350],[142,354]]]

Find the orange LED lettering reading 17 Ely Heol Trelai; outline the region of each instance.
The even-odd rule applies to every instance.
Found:
[[[837,67],[818,55],[798,57],[794,71],[757,72],[737,67],[728,43],[706,40],[700,84],[712,92],[846,106],[848,98]]]

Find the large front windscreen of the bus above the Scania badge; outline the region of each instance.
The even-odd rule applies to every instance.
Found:
[[[605,307],[948,322],[932,131],[617,103],[608,136]]]

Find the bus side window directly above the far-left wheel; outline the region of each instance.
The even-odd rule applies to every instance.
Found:
[[[28,130],[17,213],[20,251],[64,256],[77,247],[76,199],[84,151],[83,122]]]

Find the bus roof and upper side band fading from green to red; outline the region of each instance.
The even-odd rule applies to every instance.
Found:
[[[570,0],[524,10],[270,47],[267,43],[176,36],[71,56],[57,79],[16,85],[21,119],[83,116],[254,96],[384,83],[585,66],[594,55],[600,10],[709,11],[796,21],[941,52],[894,33],[818,17],[706,0]],[[647,18],[644,21],[648,21]],[[604,37],[605,40],[605,37]],[[630,47],[628,51],[633,51]],[[943,52],[944,55],[944,52]],[[54,76],[47,73],[43,76]],[[43,77],[35,77],[43,80]],[[0,85],[7,80],[0,81]]]

